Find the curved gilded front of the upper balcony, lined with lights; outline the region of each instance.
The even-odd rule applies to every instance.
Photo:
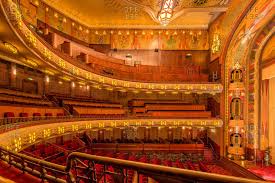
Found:
[[[157,82],[136,82],[111,77],[101,76],[88,69],[86,65],[77,63],[71,58],[64,59],[56,53],[51,46],[45,44],[45,41],[35,35],[24,23],[19,7],[12,0],[1,1],[2,11],[6,20],[10,24],[18,38],[25,46],[51,68],[73,76],[84,82],[100,85],[110,90],[120,91],[150,91],[150,92],[193,92],[193,93],[220,93],[223,89],[221,84],[217,83],[157,83]]]

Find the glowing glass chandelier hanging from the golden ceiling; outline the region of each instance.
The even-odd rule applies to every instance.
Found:
[[[158,20],[164,26],[168,25],[173,15],[176,0],[163,0],[158,14]]]

